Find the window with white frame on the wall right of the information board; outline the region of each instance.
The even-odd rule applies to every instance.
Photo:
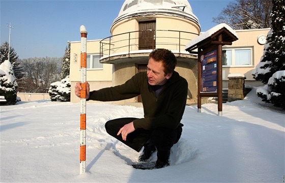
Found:
[[[223,66],[252,66],[252,48],[222,50]]]

